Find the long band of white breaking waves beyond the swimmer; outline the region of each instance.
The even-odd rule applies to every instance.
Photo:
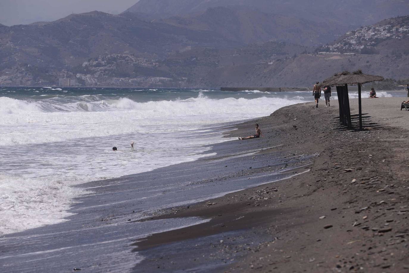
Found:
[[[232,122],[269,115],[303,102],[297,99],[197,98],[135,102],[128,98],[100,100],[98,96],[53,97],[29,102],[0,97],[0,146],[47,143],[76,138],[128,134],[135,131],[180,131],[181,126]],[[155,129],[155,126],[156,127]],[[159,127],[160,126],[160,127]]]

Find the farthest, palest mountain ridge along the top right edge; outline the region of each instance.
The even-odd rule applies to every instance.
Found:
[[[409,14],[409,2],[402,0],[140,0],[127,11],[155,19],[230,5],[348,26],[368,25],[384,18]]]

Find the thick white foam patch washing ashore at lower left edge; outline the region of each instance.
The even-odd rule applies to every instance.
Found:
[[[64,221],[72,198],[82,193],[61,180],[0,174],[0,235]]]

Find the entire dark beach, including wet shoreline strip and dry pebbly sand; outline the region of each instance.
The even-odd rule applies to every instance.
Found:
[[[9,272],[407,272],[402,101],[363,99],[365,131],[339,124],[337,101],[218,128],[247,136],[259,123],[264,136],[77,185],[93,193],[75,199],[69,221],[2,236],[0,262]]]

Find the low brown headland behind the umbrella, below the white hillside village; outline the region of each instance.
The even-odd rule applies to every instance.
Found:
[[[364,73],[385,78],[407,79],[409,57],[398,59],[383,55],[300,54],[279,61],[229,65],[209,71],[197,86],[312,86],[334,73],[362,69]],[[210,84],[210,83],[211,84]]]

